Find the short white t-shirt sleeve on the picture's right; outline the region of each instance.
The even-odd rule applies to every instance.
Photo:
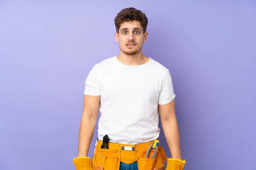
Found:
[[[173,99],[175,99],[175,94],[174,94],[173,85],[172,85],[172,77],[168,70],[161,85],[158,104],[165,105],[169,102],[172,102]]]

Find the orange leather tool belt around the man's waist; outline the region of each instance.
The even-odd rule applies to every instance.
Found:
[[[103,141],[98,140],[93,154],[93,170],[119,170],[120,162],[131,164],[137,161],[139,170],[164,170],[164,162],[167,161],[163,147],[158,145],[154,156],[151,142],[141,144],[118,144],[108,142],[107,147],[102,147]]]

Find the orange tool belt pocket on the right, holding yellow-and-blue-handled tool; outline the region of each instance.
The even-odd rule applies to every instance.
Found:
[[[160,150],[154,158],[151,158],[154,150],[150,150],[148,158],[146,158],[146,150],[139,152],[137,157],[138,170],[164,170],[164,162]]]

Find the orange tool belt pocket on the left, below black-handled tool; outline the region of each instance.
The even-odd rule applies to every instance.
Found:
[[[93,170],[119,170],[120,151],[96,148],[93,154]]]

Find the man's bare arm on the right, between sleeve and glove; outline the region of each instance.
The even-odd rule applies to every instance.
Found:
[[[166,105],[159,105],[158,108],[163,132],[172,158],[182,160],[180,152],[180,135],[175,113],[175,100],[172,100],[172,102]]]

